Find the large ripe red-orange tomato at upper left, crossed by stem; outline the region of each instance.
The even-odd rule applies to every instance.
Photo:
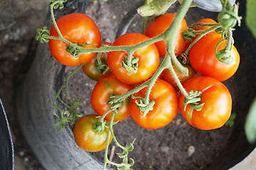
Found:
[[[60,33],[66,40],[80,45],[87,45],[84,48],[99,47],[101,42],[100,30],[92,19],[82,13],[70,13],[56,20]],[[50,36],[58,37],[55,26],[50,29]],[[89,62],[95,56],[95,52],[87,52],[79,57],[69,55],[66,47],[68,44],[60,40],[49,40],[50,52],[55,59],[66,66],[77,66],[85,62]]]

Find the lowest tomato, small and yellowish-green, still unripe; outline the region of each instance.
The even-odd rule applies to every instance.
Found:
[[[107,132],[108,128],[105,128],[103,132],[95,132],[94,124],[99,120],[96,118],[98,115],[84,115],[78,120],[74,128],[75,142],[78,147],[84,149],[87,152],[98,152],[105,149],[107,144]],[[112,141],[112,135],[110,135],[110,142]],[[109,145],[110,145],[109,142]]]

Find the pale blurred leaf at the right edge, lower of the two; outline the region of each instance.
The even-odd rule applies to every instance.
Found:
[[[251,144],[256,140],[256,98],[252,101],[245,120],[245,135]]]

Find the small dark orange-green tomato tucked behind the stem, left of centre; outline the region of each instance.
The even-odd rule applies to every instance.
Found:
[[[110,46],[112,44],[110,42],[101,42],[100,46],[103,46],[103,45]],[[105,62],[105,64],[107,64],[107,55],[108,55],[107,52],[102,52],[102,54],[100,55],[100,60]],[[82,66],[82,71],[90,79],[94,81],[99,81],[102,77],[105,77],[107,74],[110,74],[111,70],[110,70],[110,67],[107,67],[107,69],[105,69],[105,71],[102,72],[102,74],[100,74],[100,72],[97,72],[97,69],[95,67],[95,60],[97,60],[97,55],[95,55],[95,57],[93,57],[92,60],[90,60],[90,62],[87,62]]]

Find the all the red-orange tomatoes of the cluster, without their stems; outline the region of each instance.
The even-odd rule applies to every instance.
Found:
[[[101,35],[97,26],[91,18],[82,13],[72,13],[60,17],[56,23],[66,40],[77,45],[87,44],[82,46],[84,48],[104,47],[106,45],[130,46],[164,33],[174,20],[174,16],[174,13],[159,16],[149,24],[144,35],[126,33],[117,38],[112,44],[101,42]],[[198,23],[215,23],[215,21],[204,19],[198,21]],[[207,28],[206,26],[197,27],[193,30],[206,30]],[[176,56],[181,55],[190,44],[189,41],[183,40],[182,33],[186,29],[188,29],[188,26],[185,19],[183,19],[176,35]],[[50,30],[50,35],[58,37],[58,31],[54,26]],[[189,64],[183,64],[184,67],[188,68],[188,74],[183,74],[174,65],[176,75],[188,93],[191,91],[202,92],[200,103],[203,104],[203,108],[201,111],[191,108],[190,103],[184,104],[185,96],[182,93],[178,96],[180,89],[169,69],[165,69],[159,79],[155,81],[149,94],[149,100],[154,101],[153,109],[146,115],[139,109],[138,103],[146,96],[148,87],[145,86],[133,94],[132,98],[128,97],[124,100],[122,106],[118,108],[118,113],[114,113],[114,121],[122,121],[131,115],[132,119],[141,127],[156,129],[168,125],[176,117],[179,110],[188,123],[196,128],[211,130],[223,126],[230,117],[232,98],[228,89],[220,81],[224,81],[235,74],[240,57],[233,46],[230,54],[234,58],[235,64],[225,64],[218,61],[215,57],[215,47],[220,40],[223,40],[221,35],[213,30],[191,47],[188,53]],[[95,68],[95,63],[97,63],[95,52],[87,52],[79,55],[79,57],[73,57],[67,50],[68,44],[65,42],[52,39],[49,41],[49,46],[53,57],[62,64],[77,66],[86,63],[82,66],[83,71],[88,77],[97,81],[90,101],[92,108],[98,115],[103,115],[110,109],[111,106],[107,105],[110,94],[120,96],[146,82],[159,68],[159,57],[165,57],[166,55],[166,41],[164,40],[136,50],[132,54],[132,64],[137,70],[131,73],[122,64],[128,55],[125,51],[100,53],[101,62],[107,67],[99,70]],[[223,47],[225,47],[225,42],[218,45],[217,51],[223,49]],[[198,76],[198,73],[201,76]],[[111,116],[112,111],[106,115],[105,119],[110,120]],[[96,115],[85,115],[78,120],[74,129],[75,140],[78,145],[90,152],[104,149],[106,145],[107,128],[100,133],[93,130],[93,125],[97,121]]]

